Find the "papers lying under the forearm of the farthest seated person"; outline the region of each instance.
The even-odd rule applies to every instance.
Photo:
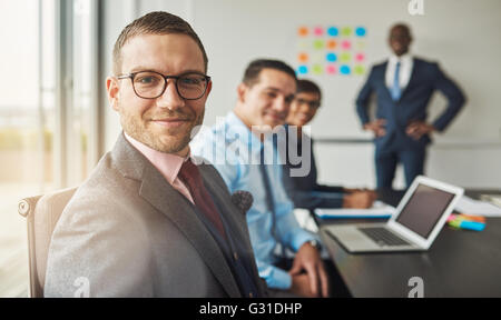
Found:
[[[320,218],[390,218],[395,208],[382,201],[375,201],[370,209],[315,209]]]

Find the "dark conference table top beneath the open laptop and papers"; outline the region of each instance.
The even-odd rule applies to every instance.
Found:
[[[484,192],[501,194],[501,190],[465,193],[478,198]],[[380,200],[394,207],[403,194],[377,191]],[[501,297],[501,218],[487,218],[483,231],[445,224],[425,252],[348,253],[325,229],[331,223],[384,221],[315,217],[322,241],[353,297]]]

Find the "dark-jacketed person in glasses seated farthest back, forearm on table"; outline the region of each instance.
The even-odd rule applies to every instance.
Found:
[[[296,208],[311,210],[315,208],[370,208],[375,200],[375,192],[373,191],[317,183],[317,171],[313,153],[314,141],[302,129],[315,117],[321,106],[321,99],[322,91],[316,83],[310,80],[297,80],[296,97],[291,104],[291,112],[286,121],[287,127],[295,128],[297,134],[294,134],[294,130],[288,130],[289,128],[287,128],[285,130],[287,137],[286,146],[292,146],[297,150],[294,150],[295,152],[301,153],[303,150],[302,144],[308,143],[311,169],[307,174],[295,177],[293,170],[298,169],[303,163],[291,161],[291,154],[296,153],[287,150],[285,166],[283,167],[285,190]]]

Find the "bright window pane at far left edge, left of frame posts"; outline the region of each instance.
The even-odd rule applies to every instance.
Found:
[[[7,44],[0,77],[0,296],[9,297],[27,293],[26,222],[17,203],[53,187],[53,1],[1,1],[0,12]]]

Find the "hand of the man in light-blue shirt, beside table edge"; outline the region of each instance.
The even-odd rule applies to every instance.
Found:
[[[306,274],[302,273],[306,271]],[[288,271],[293,278],[291,291],[301,297],[328,297],[328,278],[318,250],[308,242],[301,246]]]

